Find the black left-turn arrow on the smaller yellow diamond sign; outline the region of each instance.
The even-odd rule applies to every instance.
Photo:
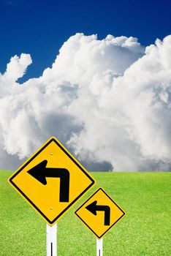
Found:
[[[96,215],[96,211],[104,211],[104,226],[110,226],[110,207],[109,206],[97,206],[97,201],[86,206],[86,209],[91,212],[91,214]]]

